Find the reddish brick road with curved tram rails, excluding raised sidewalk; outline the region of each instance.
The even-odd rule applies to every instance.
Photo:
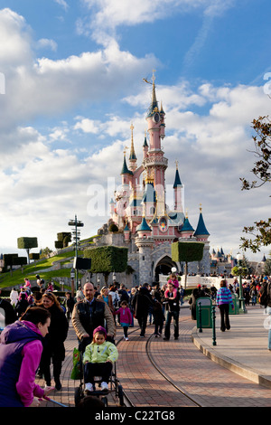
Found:
[[[154,326],[147,326],[145,338],[139,337],[136,327],[130,328],[129,341],[122,340],[117,345],[117,377],[133,405],[139,408],[192,407],[193,402],[182,394],[184,392],[204,407],[270,407],[269,389],[221,367],[201,353],[192,343],[194,326],[189,310],[182,309],[178,341],[167,342],[152,336],[149,349],[153,363],[146,354],[145,345],[148,335],[154,332]],[[120,327],[117,327],[118,335],[122,335]],[[70,380],[74,346],[77,343],[70,326],[62,368],[62,390],[51,394],[51,399],[69,407],[74,407],[74,391],[79,385],[78,381]],[[37,382],[42,384],[41,380]],[[110,406],[118,404],[114,394],[108,400]],[[57,407],[45,401],[42,401],[42,406]]]

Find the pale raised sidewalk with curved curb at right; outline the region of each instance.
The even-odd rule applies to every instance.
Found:
[[[230,330],[220,331],[220,312],[216,312],[216,343],[212,329],[194,328],[194,344],[213,361],[253,382],[271,389],[271,351],[267,349],[269,316],[259,305],[248,313],[230,315]]]

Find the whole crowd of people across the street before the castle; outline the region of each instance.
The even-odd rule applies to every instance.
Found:
[[[249,279],[243,285],[244,297],[254,305],[261,287],[271,279]],[[221,330],[229,329],[229,303],[232,292],[238,293],[238,279],[228,286],[221,280],[220,288],[198,285],[190,299],[192,319],[196,319],[195,306],[198,297],[215,299],[220,308]],[[249,294],[246,298],[246,292]],[[94,373],[102,376],[102,390],[107,391],[112,364],[117,361],[115,345],[117,325],[123,329],[124,339],[129,340],[128,329],[136,319],[140,337],[145,337],[147,324],[154,325],[154,336],[164,341],[179,338],[179,314],[185,292],[172,273],[167,284],[143,285],[127,290],[125,285],[96,288],[87,282],[79,288],[75,297],[70,292],[56,297],[51,282],[37,275],[37,285],[31,288],[24,279],[21,291],[13,289],[10,300],[0,297],[0,307],[5,310],[5,326],[0,335],[0,406],[39,406],[41,398],[47,398],[53,390],[61,390],[61,367],[65,359],[65,340],[69,325],[73,326],[84,353],[86,394],[95,388]],[[1,310],[0,310],[1,311]],[[271,305],[270,305],[271,313]],[[271,333],[270,333],[271,347]],[[51,364],[54,386],[51,386]],[[15,365],[15,367],[14,367]],[[43,377],[42,389],[35,383]]]

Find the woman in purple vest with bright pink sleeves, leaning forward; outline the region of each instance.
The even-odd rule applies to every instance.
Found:
[[[28,307],[20,320],[5,327],[0,336],[0,407],[38,407],[44,390],[35,383],[42,355],[42,341],[48,334],[51,315],[43,307]]]

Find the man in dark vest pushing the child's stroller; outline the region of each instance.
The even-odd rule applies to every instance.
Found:
[[[72,311],[71,322],[77,337],[79,349],[84,351],[91,343],[91,335],[98,326],[107,326],[107,339],[114,340],[116,326],[113,315],[107,303],[94,297],[94,286],[87,282],[83,288],[84,299],[77,303]]]

